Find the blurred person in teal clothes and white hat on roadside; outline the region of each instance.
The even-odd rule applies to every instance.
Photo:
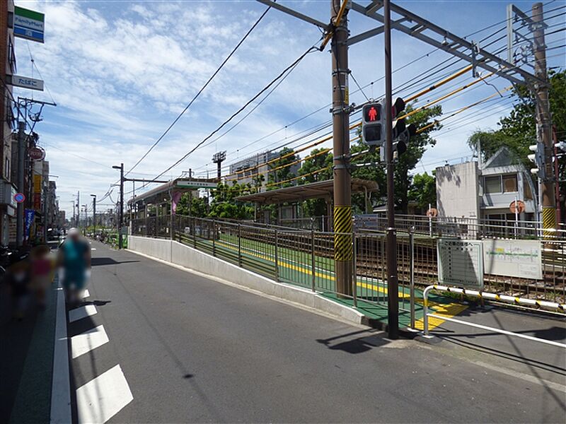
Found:
[[[91,272],[91,247],[76,228],[59,247],[59,266],[67,302],[79,302]]]

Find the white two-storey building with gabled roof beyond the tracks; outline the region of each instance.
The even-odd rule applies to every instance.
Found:
[[[519,220],[536,220],[536,193],[529,170],[502,147],[485,163],[475,161],[437,167],[439,216],[514,221],[511,204],[523,201]]]

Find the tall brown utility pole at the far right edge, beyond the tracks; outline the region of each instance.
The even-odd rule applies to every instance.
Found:
[[[546,74],[546,45],[544,40],[543,4],[535,3],[532,9],[533,42],[535,52],[535,76],[548,83]],[[535,84],[536,100],[536,139],[544,146],[544,179],[542,184],[543,232],[555,235],[548,229],[556,228],[556,199],[553,180],[553,136],[550,122],[550,103],[548,85]]]

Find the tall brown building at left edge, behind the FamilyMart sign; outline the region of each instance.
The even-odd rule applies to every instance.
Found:
[[[16,228],[16,185],[11,179],[12,131],[16,129],[13,113],[11,76],[16,71],[13,37],[13,0],[0,1],[0,244],[7,245]]]

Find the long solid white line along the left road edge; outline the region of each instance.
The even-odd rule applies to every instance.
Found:
[[[55,312],[50,423],[62,424],[71,422],[71,384],[69,381],[69,351],[67,349],[65,295],[60,280],[57,281],[56,290],[57,311]]]

